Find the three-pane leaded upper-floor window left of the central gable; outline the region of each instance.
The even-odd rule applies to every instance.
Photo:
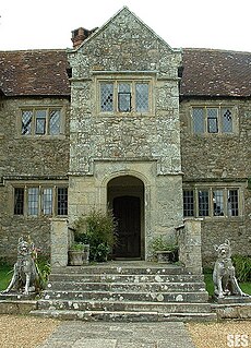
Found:
[[[61,133],[61,109],[22,109],[22,135],[59,135]]]

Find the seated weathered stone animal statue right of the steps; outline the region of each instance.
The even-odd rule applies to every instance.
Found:
[[[231,262],[230,241],[226,239],[225,243],[214,245],[214,249],[218,254],[213,272],[215,296],[218,298],[230,295],[249,297],[240,289],[237,283],[235,267]]]

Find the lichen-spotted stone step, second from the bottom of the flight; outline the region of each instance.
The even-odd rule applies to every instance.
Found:
[[[162,313],[210,313],[207,302],[155,302],[155,301],[94,301],[94,300],[45,300],[37,303],[38,310],[77,310],[108,312],[162,312]]]

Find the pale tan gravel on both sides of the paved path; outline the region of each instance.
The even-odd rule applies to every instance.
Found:
[[[60,321],[57,320],[38,319],[33,316],[1,315],[0,347],[36,348],[56,331],[58,325],[60,325]],[[186,324],[186,327],[196,348],[251,348],[251,321],[190,323]],[[228,335],[246,336],[241,337]],[[248,340],[246,340],[247,336]],[[237,343],[232,341],[232,337],[237,339]],[[238,337],[242,340],[238,341]]]

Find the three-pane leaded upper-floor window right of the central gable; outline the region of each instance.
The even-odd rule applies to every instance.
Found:
[[[226,107],[193,107],[193,133],[232,133],[234,110]]]

